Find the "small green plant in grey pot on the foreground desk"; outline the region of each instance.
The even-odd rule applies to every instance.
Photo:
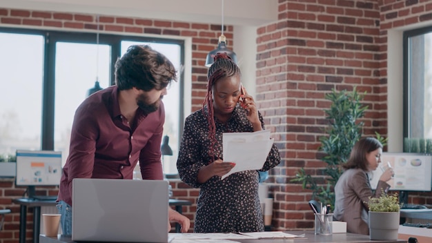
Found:
[[[400,204],[397,193],[369,197],[369,238],[371,240],[397,240]]]

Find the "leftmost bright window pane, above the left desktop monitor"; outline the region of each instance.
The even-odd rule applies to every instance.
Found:
[[[0,155],[41,148],[43,45],[41,35],[0,32]]]

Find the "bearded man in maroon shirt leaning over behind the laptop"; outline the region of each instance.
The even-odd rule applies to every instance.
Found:
[[[115,64],[116,85],[90,95],[77,108],[57,199],[63,234],[72,234],[72,179],[132,179],[138,162],[143,179],[164,179],[161,99],[173,80],[176,70],[164,55],[150,46],[130,46]],[[171,208],[168,215],[188,231],[187,217]]]

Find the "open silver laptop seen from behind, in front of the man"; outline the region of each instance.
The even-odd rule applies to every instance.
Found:
[[[72,240],[168,242],[168,182],[73,179]]]

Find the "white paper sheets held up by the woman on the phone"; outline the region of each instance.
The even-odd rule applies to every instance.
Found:
[[[223,175],[222,179],[236,172],[261,169],[273,146],[273,140],[270,138],[270,130],[253,133],[223,133],[224,162],[235,162],[235,166]]]

